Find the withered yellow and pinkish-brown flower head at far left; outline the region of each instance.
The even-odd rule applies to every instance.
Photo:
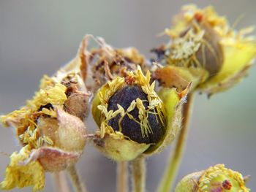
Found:
[[[26,106],[1,116],[4,126],[15,128],[22,146],[10,156],[0,183],[2,190],[26,186],[42,190],[45,172],[59,172],[78,161],[86,145],[83,118],[89,96],[80,72],[82,65],[78,54],[53,77],[45,75]]]

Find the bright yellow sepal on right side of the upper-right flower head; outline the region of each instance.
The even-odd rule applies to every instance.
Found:
[[[211,96],[236,85],[248,74],[253,59],[256,57],[256,40],[254,42],[234,42],[225,44],[225,61],[222,70],[198,87],[199,91]]]

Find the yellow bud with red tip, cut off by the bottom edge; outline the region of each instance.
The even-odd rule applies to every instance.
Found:
[[[176,186],[176,192],[249,192],[239,172],[225,168],[224,164],[211,166],[201,172],[188,174]]]

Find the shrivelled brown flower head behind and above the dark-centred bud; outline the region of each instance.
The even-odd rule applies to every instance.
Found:
[[[135,71],[140,66],[146,71],[146,59],[134,47],[116,49],[105,43],[102,38],[87,35],[85,39],[94,39],[99,47],[87,50],[85,47],[86,62],[91,72],[91,77],[86,81],[86,86],[92,93],[102,87],[108,80],[116,77],[127,77],[129,71]]]

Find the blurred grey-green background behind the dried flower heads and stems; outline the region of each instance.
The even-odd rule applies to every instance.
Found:
[[[18,109],[33,96],[43,74],[53,74],[77,53],[85,34],[105,38],[114,47],[135,46],[150,57],[149,50],[162,42],[159,32],[189,1],[0,1],[0,113]],[[194,1],[199,7],[211,4],[230,23],[244,15],[237,28],[255,25],[256,1]],[[187,150],[178,174],[184,175],[223,163],[252,175],[248,187],[256,189],[256,67],[235,88],[207,99],[197,95]],[[87,122],[96,129],[92,120]],[[0,127],[0,151],[11,154],[20,147],[11,129]],[[172,146],[148,158],[148,192],[155,191]],[[9,163],[0,154],[0,180]],[[90,145],[78,162],[89,191],[115,191],[116,164]],[[45,191],[54,185],[47,174]],[[31,191],[30,188],[13,191]]]

